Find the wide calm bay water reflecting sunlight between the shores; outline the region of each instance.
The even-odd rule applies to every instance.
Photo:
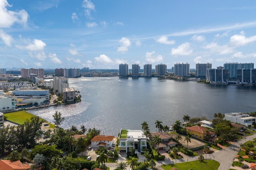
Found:
[[[82,77],[69,82],[80,91],[82,102],[29,112],[53,122],[52,115],[60,111],[63,128],[85,125],[117,136],[121,128],[141,129],[143,121],[154,132],[156,120],[170,126],[176,120],[183,122],[184,115],[213,119],[214,113],[256,111],[256,87],[143,77]]]

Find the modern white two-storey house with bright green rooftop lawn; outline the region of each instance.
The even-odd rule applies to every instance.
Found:
[[[121,129],[119,134],[120,151],[126,153],[134,150],[136,152],[144,152],[147,150],[147,138],[142,130]]]

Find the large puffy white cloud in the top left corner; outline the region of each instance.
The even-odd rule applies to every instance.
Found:
[[[0,0],[0,28],[10,28],[14,23],[26,26],[28,13],[25,10],[10,11],[6,7],[12,7],[7,0]]]

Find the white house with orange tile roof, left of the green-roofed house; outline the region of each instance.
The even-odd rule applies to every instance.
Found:
[[[98,135],[91,140],[92,148],[111,147],[115,136]]]

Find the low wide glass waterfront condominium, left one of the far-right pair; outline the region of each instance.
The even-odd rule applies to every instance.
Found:
[[[206,81],[212,83],[228,83],[228,69],[206,69]]]

